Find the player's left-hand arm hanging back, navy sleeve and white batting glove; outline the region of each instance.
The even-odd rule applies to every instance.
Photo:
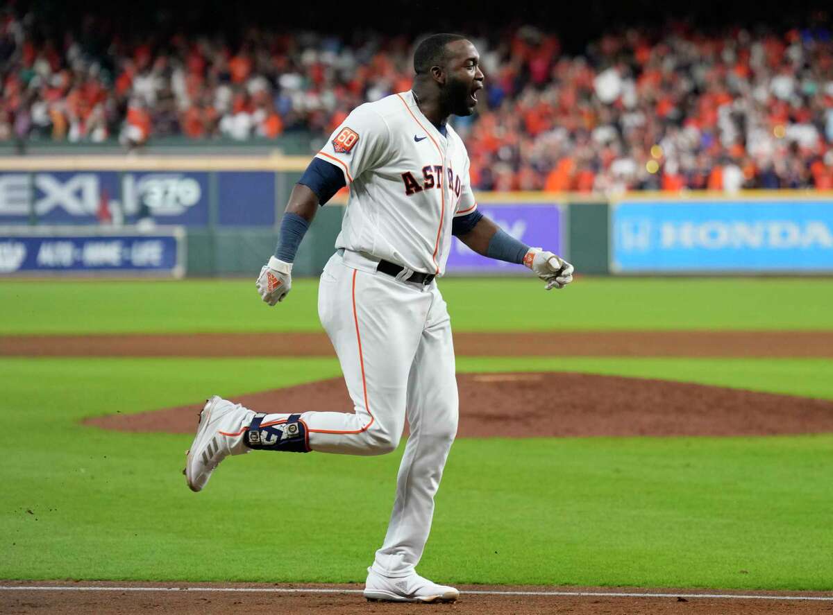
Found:
[[[315,218],[318,207],[329,201],[346,183],[337,166],[313,158],[307,171],[292,188],[281,219],[275,254],[257,276],[257,292],[269,305],[282,301],[292,289],[292,263],[298,246]]]

